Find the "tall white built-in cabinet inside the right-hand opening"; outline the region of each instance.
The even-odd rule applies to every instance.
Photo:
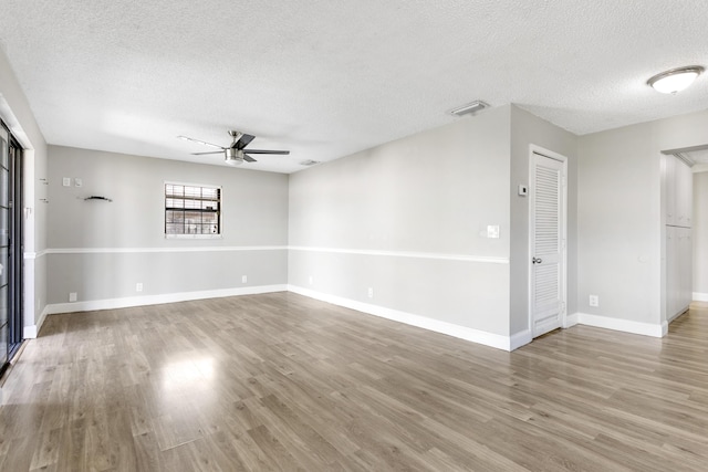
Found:
[[[666,316],[673,319],[693,300],[693,196],[694,176],[679,157],[664,156],[666,195]]]

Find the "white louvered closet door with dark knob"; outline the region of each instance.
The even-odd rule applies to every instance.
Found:
[[[563,325],[565,315],[565,160],[531,155],[531,334]]]

